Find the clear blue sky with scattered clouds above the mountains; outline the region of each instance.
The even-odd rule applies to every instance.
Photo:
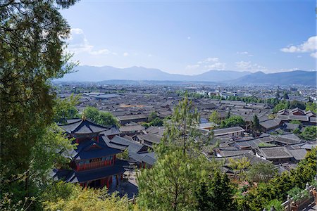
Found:
[[[61,11],[81,65],[207,70],[316,70],[316,2],[79,1]]]

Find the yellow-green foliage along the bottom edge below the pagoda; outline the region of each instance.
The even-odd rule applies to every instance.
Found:
[[[120,198],[106,189],[84,188],[58,182],[51,184],[42,196],[44,210],[129,210],[128,198]]]

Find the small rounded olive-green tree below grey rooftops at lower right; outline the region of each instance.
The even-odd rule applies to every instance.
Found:
[[[253,182],[268,182],[276,173],[275,165],[271,162],[257,162],[249,168],[247,177]]]

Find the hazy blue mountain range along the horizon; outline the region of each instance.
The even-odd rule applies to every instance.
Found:
[[[296,70],[265,74],[263,72],[239,72],[233,70],[209,70],[199,75],[180,75],[163,72],[159,69],[131,67],[113,68],[111,66],[77,66],[77,72],[65,75],[58,82],[101,82],[104,80],[137,81],[188,81],[188,82],[222,82],[231,84],[302,84],[316,85],[316,72]]]

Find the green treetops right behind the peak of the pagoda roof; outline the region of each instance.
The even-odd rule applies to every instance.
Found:
[[[104,126],[119,125],[118,120],[109,112],[98,110],[97,108],[88,106],[84,110],[85,116],[88,120],[101,124]]]

